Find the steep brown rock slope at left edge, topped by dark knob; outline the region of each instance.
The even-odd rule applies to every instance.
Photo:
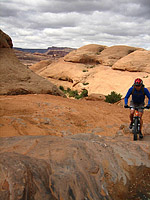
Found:
[[[64,96],[55,85],[21,64],[8,45],[10,40],[5,38],[1,32],[0,44],[4,41],[8,43],[0,45],[0,94],[47,93]]]

